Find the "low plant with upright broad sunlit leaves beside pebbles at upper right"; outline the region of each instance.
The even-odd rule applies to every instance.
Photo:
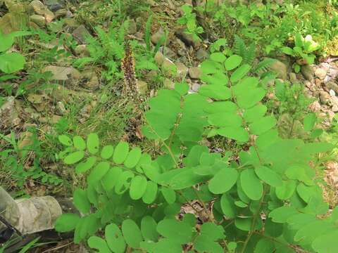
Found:
[[[313,41],[311,35],[306,35],[305,38],[301,34],[294,36],[294,47],[284,46],[281,50],[283,53],[292,56],[297,59],[296,63],[292,65],[294,71],[298,73],[301,70],[303,64],[313,64],[315,62],[314,51],[317,51],[320,45]]]

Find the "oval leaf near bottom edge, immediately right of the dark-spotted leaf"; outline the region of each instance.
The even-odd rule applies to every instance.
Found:
[[[132,248],[138,248],[142,242],[142,234],[139,226],[132,219],[125,219],[122,223],[122,232],[125,242]]]

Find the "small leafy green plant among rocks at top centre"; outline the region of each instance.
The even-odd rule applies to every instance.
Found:
[[[192,6],[184,4],[182,6],[183,15],[177,20],[180,25],[186,25],[185,33],[191,34],[194,41],[200,41],[199,34],[204,32],[203,27],[199,26],[196,21],[196,13],[193,12]]]

